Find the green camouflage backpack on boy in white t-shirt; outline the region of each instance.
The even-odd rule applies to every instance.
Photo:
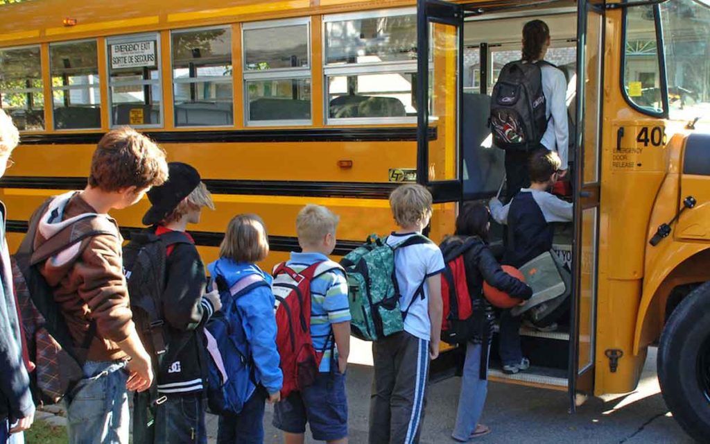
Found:
[[[371,234],[340,261],[349,287],[351,332],[361,340],[374,341],[404,330],[404,318],[416,297],[407,310],[401,310],[395,250],[432,242],[417,235],[391,247],[386,240]]]

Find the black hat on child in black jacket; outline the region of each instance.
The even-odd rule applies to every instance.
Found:
[[[148,200],[153,206],[143,215],[143,225],[165,219],[197,185],[200,185],[200,173],[195,168],[182,162],[168,163],[168,181],[148,191]]]

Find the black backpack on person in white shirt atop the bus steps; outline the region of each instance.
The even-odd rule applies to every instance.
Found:
[[[542,64],[518,60],[503,66],[491,95],[493,144],[510,151],[533,151],[547,129]],[[554,65],[552,65],[554,66]]]

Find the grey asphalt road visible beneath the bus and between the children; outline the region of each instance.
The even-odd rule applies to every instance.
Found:
[[[350,443],[367,443],[368,403],[372,381],[371,356],[366,345],[351,354],[347,385]],[[660,394],[655,377],[655,349],[648,353],[639,387],[631,394],[591,398],[567,413],[567,394],[491,382],[482,418],[493,432],[476,443],[693,443],[674,421]],[[430,386],[421,443],[454,443],[450,438],[461,380],[452,378]],[[267,406],[266,443],[281,443],[271,426]],[[217,435],[216,418],[209,418],[210,435]],[[310,439],[307,432],[307,442]]]

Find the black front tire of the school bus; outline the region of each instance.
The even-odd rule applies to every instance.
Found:
[[[683,430],[710,437],[710,282],[689,293],[663,329],[657,357],[663,399]]]

